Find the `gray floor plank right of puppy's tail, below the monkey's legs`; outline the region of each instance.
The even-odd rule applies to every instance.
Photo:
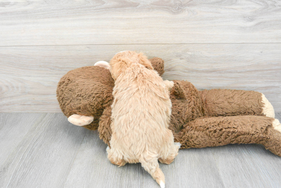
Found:
[[[175,160],[161,164],[161,169],[167,187],[225,187],[211,148],[180,150]]]

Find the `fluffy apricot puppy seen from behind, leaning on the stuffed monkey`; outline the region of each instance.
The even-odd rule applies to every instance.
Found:
[[[132,51],[117,53],[110,60],[110,72],[115,86],[108,159],[119,166],[141,162],[165,187],[158,160],[170,164],[180,147],[168,129],[173,82],[163,81],[147,57]]]

